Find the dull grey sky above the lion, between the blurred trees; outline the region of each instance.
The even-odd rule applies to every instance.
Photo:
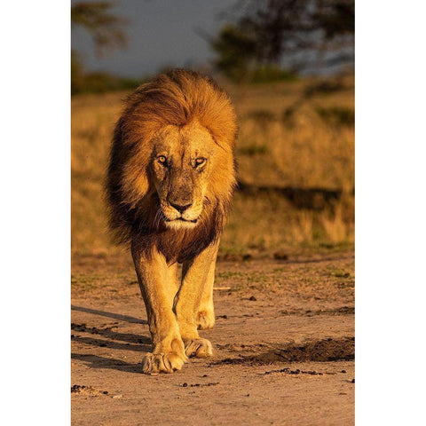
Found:
[[[229,11],[236,3],[236,0],[116,1],[114,12],[130,20],[127,48],[96,58],[91,36],[80,28],[73,29],[73,48],[83,54],[88,69],[122,76],[154,74],[164,66],[204,65],[213,58],[213,53],[194,28],[217,34],[225,22],[217,15]]]

